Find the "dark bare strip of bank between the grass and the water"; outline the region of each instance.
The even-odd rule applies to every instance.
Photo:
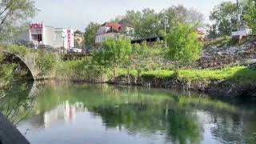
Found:
[[[80,79],[63,79],[63,78],[38,78],[35,82],[40,81],[57,81],[57,82],[82,82],[89,84],[110,84],[110,85],[127,85],[143,86],[146,88],[162,88],[165,90],[186,90],[208,94],[213,97],[221,98],[256,98],[256,83],[238,83],[231,80],[210,81],[210,80],[192,80],[187,81],[182,78],[154,78],[154,77],[126,77],[119,76],[107,81],[86,81]]]

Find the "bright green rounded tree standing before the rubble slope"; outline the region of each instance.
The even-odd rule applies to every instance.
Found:
[[[182,24],[167,34],[167,45],[169,46],[167,58],[178,61],[179,66],[197,60],[202,50],[194,28]]]

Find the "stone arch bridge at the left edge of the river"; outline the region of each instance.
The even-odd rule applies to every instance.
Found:
[[[4,61],[10,63],[17,63],[18,66],[22,67],[23,70],[27,70],[34,80],[40,78],[40,70],[38,70],[38,68],[36,67],[36,62],[33,54],[26,54],[25,56],[22,56],[8,50],[0,51],[2,51],[2,53],[5,55]]]

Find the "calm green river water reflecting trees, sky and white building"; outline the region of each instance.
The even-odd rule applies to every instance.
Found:
[[[31,86],[0,107],[32,144],[256,143],[256,105],[141,87]]]

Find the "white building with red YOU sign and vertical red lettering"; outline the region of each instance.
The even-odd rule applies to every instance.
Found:
[[[18,36],[18,40],[38,42],[42,45],[54,47],[64,46],[66,49],[74,46],[74,30],[54,28],[42,23],[31,23],[29,30]]]

